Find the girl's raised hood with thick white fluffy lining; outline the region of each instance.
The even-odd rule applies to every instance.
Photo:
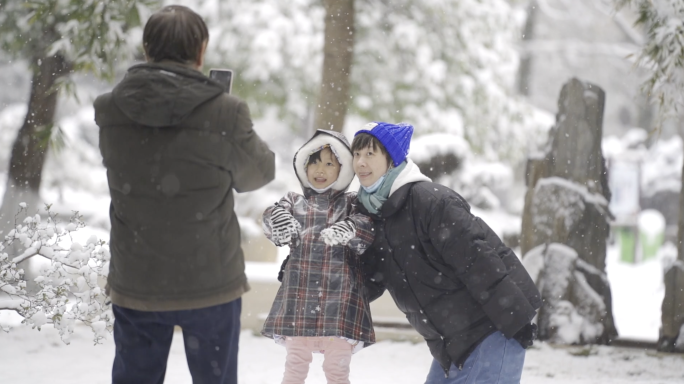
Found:
[[[316,133],[295,153],[293,159],[293,166],[295,173],[299,178],[299,183],[302,189],[311,189],[309,187],[309,180],[306,177],[306,163],[309,162],[309,156],[318,152],[324,146],[329,145],[332,152],[340,162],[340,175],[337,181],[332,186],[332,190],[346,191],[354,179],[354,169],[352,167],[354,156],[351,152],[351,145],[343,134],[335,131],[328,131],[325,129],[317,129]]]

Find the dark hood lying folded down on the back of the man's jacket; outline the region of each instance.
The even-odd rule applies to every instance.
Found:
[[[114,88],[114,103],[131,120],[150,127],[179,124],[195,108],[223,93],[221,84],[177,63],[131,67]]]

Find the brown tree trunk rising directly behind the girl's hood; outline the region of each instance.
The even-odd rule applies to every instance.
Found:
[[[354,57],[354,0],[325,0],[324,5],[323,76],[314,128],[341,132],[347,114]]]

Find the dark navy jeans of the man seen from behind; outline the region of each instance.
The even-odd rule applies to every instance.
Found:
[[[112,384],[162,384],[174,326],[183,330],[194,384],[237,384],[242,299],[207,308],[146,312],[112,305]]]

